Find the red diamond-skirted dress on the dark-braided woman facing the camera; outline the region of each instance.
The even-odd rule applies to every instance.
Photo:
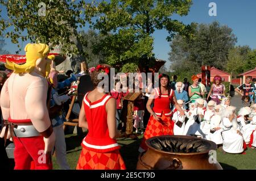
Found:
[[[154,119],[151,115],[147,123],[146,131],[141,142],[139,151],[147,150],[146,140],[154,136],[162,135],[173,135],[174,134],[174,121],[171,120],[172,112],[170,109],[170,103],[172,96],[174,96],[174,91],[171,89],[170,95],[162,94],[159,96],[159,88],[155,88],[155,99],[154,107],[152,110],[160,117],[160,121]]]

